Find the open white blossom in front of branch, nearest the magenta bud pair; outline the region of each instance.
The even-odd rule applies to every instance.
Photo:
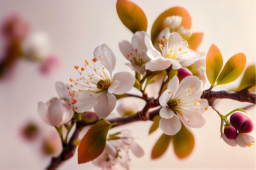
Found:
[[[162,106],[159,115],[159,127],[166,135],[175,135],[182,126],[180,119],[193,128],[204,126],[206,120],[202,116],[208,109],[207,99],[201,99],[202,82],[195,76],[187,76],[179,84],[174,76],[167,85],[167,89],[159,97]]]

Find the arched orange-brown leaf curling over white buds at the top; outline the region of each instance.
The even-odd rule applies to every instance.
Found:
[[[189,12],[186,11],[186,9],[182,7],[173,7],[170,8],[163,13],[161,13],[157,19],[155,20],[152,29],[151,29],[151,40],[153,44],[156,42],[157,36],[159,33],[164,30],[163,21],[166,17],[172,16],[172,15],[178,15],[182,17],[181,26],[184,26],[187,29],[191,28],[191,17],[189,15]]]

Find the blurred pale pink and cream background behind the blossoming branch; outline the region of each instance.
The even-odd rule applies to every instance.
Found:
[[[132,0],[141,7],[148,18],[148,33],[157,16],[171,7],[180,6],[189,11],[194,32],[204,32],[198,51],[204,57],[215,44],[220,49],[224,63],[236,53],[247,56],[247,66],[255,64],[256,56],[256,1],[254,0]],[[82,66],[84,60],[91,60],[93,51],[100,44],[107,44],[117,57],[115,73],[131,71],[124,63],[118,48],[121,40],[130,41],[132,33],[121,23],[115,9],[115,0],[0,0],[0,24],[15,15],[29,28],[27,35],[41,33],[45,53],[51,56],[48,64],[29,62],[19,58],[0,78],[0,169],[1,170],[43,170],[50,157],[42,153],[42,141],[52,139],[54,128],[45,124],[37,113],[39,101],[46,102],[57,96],[55,82],[69,83],[79,74],[75,65]],[[15,17],[14,17],[15,18]],[[17,19],[14,19],[17,20]],[[27,26],[25,26],[26,32]],[[22,33],[21,33],[22,34]],[[6,37],[0,38],[0,56],[6,52]],[[47,43],[49,42],[49,46]],[[25,48],[25,47],[24,47]],[[43,55],[43,54],[42,54]],[[4,60],[0,57],[0,60]],[[47,66],[50,65],[50,68]],[[45,67],[46,68],[45,68]],[[213,90],[229,90],[238,86],[241,77],[232,84]],[[209,88],[205,85],[205,89]],[[218,101],[217,101],[218,102]],[[221,100],[216,105],[220,113],[248,106],[247,103]],[[247,110],[255,119],[255,107]],[[207,124],[192,129],[195,148],[186,159],[178,159],[173,148],[163,157],[150,159],[151,149],[160,131],[148,136],[152,122],[136,122],[126,127],[137,135],[137,142],[144,148],[145,155],[135,158],[131,155],[131,170],[254,170],[256,168],[256,146],[249,148],[231,147],[220,139],[220,118],[212,110],[204,117]],[[22,135],[27,124],[37,124],[40,138],[31,141]],[[256,130],[252,132],[256,136]],[[59,168],[61,170],[84,170],[99,168],[92,163],[77,164],[77,154]]]

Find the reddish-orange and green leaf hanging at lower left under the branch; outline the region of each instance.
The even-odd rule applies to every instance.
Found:
[[[78,163],[86,163],[99,157],[106,146],[108,130],[111,128],[108,121],[96,122],[86,132],[78,146]]]

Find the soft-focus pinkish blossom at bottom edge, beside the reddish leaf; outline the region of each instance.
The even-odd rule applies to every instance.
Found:
[[[104,151],[92,162],[103,170],[128,170],[128,162],[131,161],[129,150],[136,157],[142,157],[144,155],[142,148],[134,141],[131,131],[123,130],[109,135]]]

